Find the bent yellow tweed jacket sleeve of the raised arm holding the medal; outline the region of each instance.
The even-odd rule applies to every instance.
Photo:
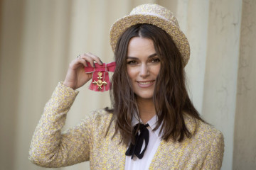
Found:
[[[56,87],[39,120],[31,141],[28,159],[44,167],[61,167],[89,160],[90,118],[61,132],[66,114],[77,96],[62,83]]]

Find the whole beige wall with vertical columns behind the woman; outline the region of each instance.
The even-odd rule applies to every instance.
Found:
[[[0,169],[43,169],[28,161],[28,148],[68,63],[82,52],[111,62],[111,24],[148,2],[174,11],[188,37],[190,96],[203,118],[223,132],[222,169],[255,168],[256,1],[1,0]],[[110,106],[108,92],[79,90],[65,128]],[[88,167],[82,163],[62,169]]]

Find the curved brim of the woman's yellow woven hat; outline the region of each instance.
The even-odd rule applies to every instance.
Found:
[[[181,52],[181,57],[183,58],[183,66],[186,66],[190,56],[190,47],[186,36],[177,26],[174,25],[174,23],[171,23],[171,21],[167,21],[160,16],[153,16],[151,14],[128,15],[117,20],[110,28],[110,45],[113,52],[115,51],[117,40],[122,35],[122,33],[124,33],[127,28],[138,23],[149,23],[165,30],[166,33],[168,33],[174,40],[176,47],[178,47],[179,52]]]

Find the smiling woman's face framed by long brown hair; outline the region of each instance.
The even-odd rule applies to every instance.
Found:
[[[156,77],[161,62],[156,55],[154,43],[148,38],[134,37],[129,41],[127,54],[127,73],[137,99],[153,97]]]

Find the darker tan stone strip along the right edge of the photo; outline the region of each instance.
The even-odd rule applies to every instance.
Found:
[[[256,166],[256,1],[242,1],[233,169]]]

